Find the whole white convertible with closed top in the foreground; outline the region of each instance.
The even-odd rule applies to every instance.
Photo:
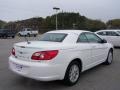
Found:
[[[74,85],[81,72],[112,60],[113,46],[96,34],[57,30],[43,34],[38,41],[14,44],[9,67],[24,77]]]

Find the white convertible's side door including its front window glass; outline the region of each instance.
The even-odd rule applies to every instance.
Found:
[[[91,58],[92,63],[91,66],[95,66],[106,60],[107,57],[107,46],[106,43],[101,43],[102,39],[98,37],[96,34],[87,32],[85,33],[89,45],[92,47],[91,49]]]

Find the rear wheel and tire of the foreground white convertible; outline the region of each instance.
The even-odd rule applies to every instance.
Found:
[[[65,77],[64,84],[68,86],[72,86],[76,84],[80,78],[81,66],[78,61],[73,61],[69,64]]]

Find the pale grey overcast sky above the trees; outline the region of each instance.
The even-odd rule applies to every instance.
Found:
[[[23,20],[31,17],[46,17],[60,11],[79,12],[91,19],[107,21],[120,18],[120,0],[0,0],[0,19]]]

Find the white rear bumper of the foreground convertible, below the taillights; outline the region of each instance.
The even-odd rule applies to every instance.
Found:
[[[19,75],[40,81],[62,80],[65,73],[61,65],[22,61],[12,56],[9,57],[9,68]]]

